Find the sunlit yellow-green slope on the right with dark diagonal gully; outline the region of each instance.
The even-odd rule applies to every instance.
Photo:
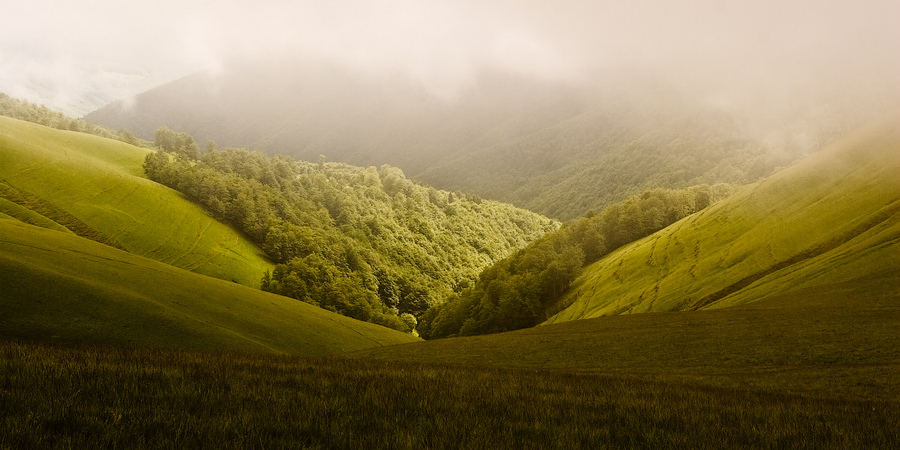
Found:
[[[847,139],[585,269],[548,323],[721,308],[900,274],[900,121]]]

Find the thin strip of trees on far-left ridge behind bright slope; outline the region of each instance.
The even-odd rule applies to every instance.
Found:
[[[116,139],[131,145],[147,146],[148,144],[146,141],[134,137],[128,130],[113,132],[81,119],[73,119],[61,112],[53,111],[46,106],[36,105],[25,100],[14,99],[4,93],[0,93],[0,115],[48,126],[50,128],[56,128],[58,130],[78,131],[109,139]]]

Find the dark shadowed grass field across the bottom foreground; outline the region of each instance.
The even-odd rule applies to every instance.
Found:
[[[900,402],[567,371],[0,343],[2,448],[891,448]]]

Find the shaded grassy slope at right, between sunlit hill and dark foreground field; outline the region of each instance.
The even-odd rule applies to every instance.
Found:
[[[900,274],[706,311],[576,320],[364,350],[384,360],[617,374],[728,389],[900,400]]]

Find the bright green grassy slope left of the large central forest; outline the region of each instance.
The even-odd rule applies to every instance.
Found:
[[[61,222],[131,253],[259,286],[270,267],[263,253],[177,192],[145,179],[146,154],[122,142],[0,117],[0,198],[6,197],[0,212],[50,228]]]

